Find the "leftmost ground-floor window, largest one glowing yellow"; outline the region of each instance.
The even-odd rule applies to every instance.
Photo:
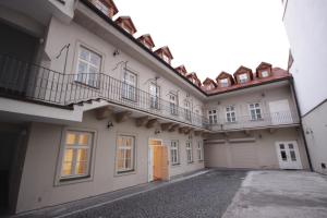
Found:
[[[93,133],[66,131],[61,165],[61,180],[86,178],[90,175],[90,153]]]

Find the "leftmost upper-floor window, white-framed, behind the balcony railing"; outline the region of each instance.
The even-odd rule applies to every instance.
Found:
[[[76,81],[96,87],[100,72],[101,57],[80,47]]]

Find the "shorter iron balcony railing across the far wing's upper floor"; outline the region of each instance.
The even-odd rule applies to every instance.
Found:
[[[267,126],[292,125],[299,123],[300,118],[296,111],[279,111],[271,113],[261,113],[259,116],[235,116],[234,119],[226,118],[217,119],[216,121],[211,120],[211,123],[209,125],[213,131],[231,131]]]

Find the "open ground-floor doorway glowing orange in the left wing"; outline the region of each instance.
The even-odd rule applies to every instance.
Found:
[[[168,148],[161,140],[148,141],[148,181],[169,180]]]

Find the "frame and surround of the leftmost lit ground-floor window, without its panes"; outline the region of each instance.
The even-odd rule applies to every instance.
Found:
[[[75,143],[72,145],[66,145],[66,136],[68,134],[75,134],[77,136],[75,138]],[[80,135],[88,135],[88,142],[87,145],[78,145],[76,143],[76,140],[80,137]],[[94,166],[94,158],[95,158],[95,147],[96,147],[96,131],[94,130],[84,130],[84,129],[63,129],[62,131],[62,137],[61,137],[61,146],[60,146],[60,153],[58,158],[58,167],[57,167],[57,175],[55,185],[60,184],[66,184],[66,183],[76,183],[82,181],[89,181],[93,179],[93,166]],[[73,150],[73,159],[72,159],[72,174],[70,175],[63,175],[63,164],[65,162],[65,153],[66,149],[74,149]],[[77,149],[86,149],[87,150],[87,159],[86,159],[86,171],[85,173],[76,173],[76,162],[77,162],[77,156],[76,152]]]

